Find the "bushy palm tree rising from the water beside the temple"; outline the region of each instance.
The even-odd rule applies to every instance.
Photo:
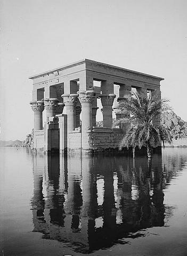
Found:
[[[121,114],[129,116],[119,118],[113,123],[113,127],[120,123],[131,123],[131,128],[126,133],[123,140],[119,144],[119,149],[123,147],[127,149],[133,147],[133,157],[135,156],[135,148],[142,146],[147,147],[148,158],[152,158],[152,145],[163,144],[165,141],[171,143],[172,138],[170,133],[161,124],[155,125],[152,120],[160,118],[163,111],[170,110],[167,105],[167,99],[161,100],[159,90],[147,92],[134,92],[134,97],[119,101],[119,110]]]

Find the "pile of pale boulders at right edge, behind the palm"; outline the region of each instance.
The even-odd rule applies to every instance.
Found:
[[[163,113],[161,124],[168,129],[173,139],[187,138],[187,122],[177,116],[174,111]]]

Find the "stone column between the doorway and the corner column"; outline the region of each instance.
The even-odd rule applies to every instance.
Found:
[[[76,127],[76,105],[78,94],[62,94],[68,116],[68,132],[74,131]]]

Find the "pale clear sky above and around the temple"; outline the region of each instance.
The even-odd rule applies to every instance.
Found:
[[[33,125],[29,76],[84,58],[164,77],[187,121],[187,1],[1,0],[0,140]]]

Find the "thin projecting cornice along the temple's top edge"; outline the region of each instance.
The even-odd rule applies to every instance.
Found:
[[[54,71],[67,69],[67,68],[70,68],[70,67],[73,67],[73,66],[80,65],[80,64],[82,64],[82,63],[86,63],[86,62],[95,62],[95,63],[99,63],[99,64],[101,64],[101,65],[103,65],[103,66],[107,66],[107,67],[111,67],[111,68],[117,68],[117,69],[120,69],[120,70],[125,70],[125,71],[128,71],[128,72],[132,72],[132,73],[136,73],[136,74],[140,74],[140,75],[149,76],[149,77],[154,77],[154,78],[158,78],[158,79],[160,79],[160,80],[164,80],[164,78],[159,77],[159,76],[152,76],[152,75],[145,74],[145,73],[141,73],[141,72],[134,71],[134,70],[131,70],[131,69],[121,68],[121,67],[113,66],[113,65],[110,65],[110,64],[107,64],[107,63],[103,63],[103,62],[99,62],[99,61],[95,61],[95,60],[90,60],[90,59],[83,59],[83,60],[79,60],[79,61],[70,63],[70,64],[65,65],[65,66],[61,66],[61,67],[59,67],[59,68],[54,68],[54,69],[45,71],[45,72],[43,72],[43,73],[39,73],[39,74],[37,74],[37,75],[30,76],[29,79],[37,78],[37,77],[43,76],[43,75],[45,75],[45,74],[53,73]]]

